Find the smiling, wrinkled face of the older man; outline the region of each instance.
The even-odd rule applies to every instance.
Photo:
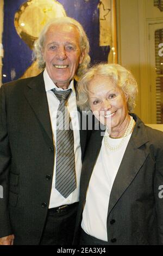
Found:
[[[48,75],[55,85],[67,88],[82,63],[79,32],[73,25],[52,25],[46,35],[42,50]]]

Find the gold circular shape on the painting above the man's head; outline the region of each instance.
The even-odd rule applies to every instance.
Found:
[[[34,41],[45,24],[54,17],[66,16],[62,4],[55,0],[29,0],[15,13],[14,24],[17,34],[33,49]]]

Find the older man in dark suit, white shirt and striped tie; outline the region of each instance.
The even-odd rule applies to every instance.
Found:
[[[0,244],[71,245],[88,134],[69,127],[80,123],[74,76],[90,62],[89,41],[62,17],[43,28],[34,52],[43,72],[1,87]]]

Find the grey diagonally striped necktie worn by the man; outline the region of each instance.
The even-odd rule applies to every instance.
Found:
[[[57,91],[52,89],[60,104],[57,110],[57,163],[55,188],[67,198],[76,189],[74,162],[74,138],[70,129],[70,116],[66,102],[72,90]]]

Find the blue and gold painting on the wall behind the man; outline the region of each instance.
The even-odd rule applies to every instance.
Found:
[[[5,0],[3,15],[3,83],[40,73],[32,49],[52,17],[70,16],[83,25],[91,64],[117,62],[115,0]]]

